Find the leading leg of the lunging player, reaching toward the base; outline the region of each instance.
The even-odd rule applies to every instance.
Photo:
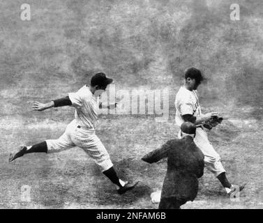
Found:
[[[72,138],[76,146],[82,148],[91,159],[98,164],[103,174],[116,185],[119,194],[131,190],[137,185],[137,183],[130,184],[127,181],[123,181],[117,176],[112,161],[110,160],[110,155],[107,153],[105,146],[100,139],[98,139],[95,132],[75,134]]]

